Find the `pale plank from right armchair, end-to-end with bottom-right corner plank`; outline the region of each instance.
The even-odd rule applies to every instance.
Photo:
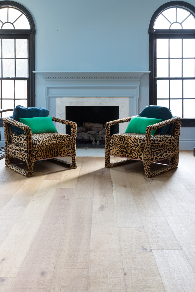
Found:
[[[141,173],[127,173],[137,208],[152,249],[180,249],[159,208],[147,180]]]

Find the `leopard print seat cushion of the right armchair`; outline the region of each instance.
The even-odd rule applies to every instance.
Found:
[[[150,149],[170,147],[175,144],[171,135],[154,135],[150,138]],[[111,145],[119,148],[143,150],[145,147],[145,135],[135,133],[114,134],[111,136]]]

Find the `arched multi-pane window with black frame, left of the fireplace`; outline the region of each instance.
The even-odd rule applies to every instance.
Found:
[[[34,21],[30,12],[13,1],[0,2],[1,109],[35,105]],[[2,117],[11,112],[1,114]]]

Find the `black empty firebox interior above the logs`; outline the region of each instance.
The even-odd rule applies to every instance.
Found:
[[[104,124],[119,119],[119,106],[66,106],[66,120]],[[111,135],[119,132],[119,124],[111,126]],[[66,126],[66,134],[71,135],[71,126]]]

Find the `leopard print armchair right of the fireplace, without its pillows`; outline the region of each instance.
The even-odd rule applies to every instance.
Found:
[[[110,135],[110,126],[129,122],[132,117],[111,121],[105,124],[106,145],[105,145],[105,167],[141,160],[144,164],[145,175],[151,178],[160,173],[164,173],[178,166],[179,161],[179,137],[181,118],[162,121],[160,123],[146,127],[146,134],[122,133]],[[174,133],[172,135],[154,135],[151,131],[165,125],[174,123]],[[110,156],[125,158],[120,161],[110,162]],[[157,170],[150,170],[153,162],[169,160],[169,165]]]

